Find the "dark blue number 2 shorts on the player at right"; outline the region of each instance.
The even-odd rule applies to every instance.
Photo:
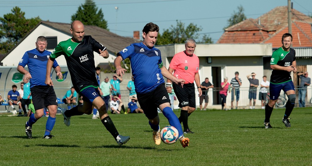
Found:
[[[277,100],[280,96],[281,90],[284,92],[295,90],[295,87],[293,86],[292,81],[288,81],[281,84],[272,84],[270,83],[270,99],[271,100]]]

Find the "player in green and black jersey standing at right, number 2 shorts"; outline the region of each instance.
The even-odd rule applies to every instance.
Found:
[[[282,119],[286,127],[290,127],[290,118],[288,117],[295,106],[296,95],[291,72],[297,73],[297,64],[295,58],[296,52],[294,49],[290,48],[292,45],[292,35],[285,33],[282,36],[282,44],[282,47],[273,52],[270,62],[270,67],[273,71],[270,80],[270,100],[265,106],[264,126],[266,129],[272,128],[270,125],[270,116],[273,111],[273,106],[280,96],[281,90],[283,90],[288,97],[285,114]]]

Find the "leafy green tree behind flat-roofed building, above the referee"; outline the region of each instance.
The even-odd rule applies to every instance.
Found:
[[[193,23],[190,23],[187,27],[181,21],[176,20],[176,26],[171,25],[169,29],[164,30],[163,34],[158,34],[157,45],[165,44],[175,44],[175,43],[184,43],[188,38],[193,38],[194,40],[198,39],[199,34],[202,30],[201,27],[197,27]],[[204,35],[205,39],[202,40],[205,43],[212,43],[209,36]],[[210,42],[209,42],[210,39]]]

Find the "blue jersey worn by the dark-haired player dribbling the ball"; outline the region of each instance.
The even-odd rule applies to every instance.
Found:
[[[163,67],[159,49],[148,48],[142,42],[126,47],[117,56],[129,58],[137,93],[148,93],[164,83],[160,68]]]

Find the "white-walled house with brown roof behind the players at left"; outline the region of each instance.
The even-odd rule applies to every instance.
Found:
[[[105,59],[94,52],[95,66],[98,64],[113,63],[116,53],[132,43],[140,42],[130,37],[122,37],[108,30],[94,25],[85,25],[85,35],[91,35],[99,43],[103,44],[109,52],[109,58]],[[33,30],[31,30],[21,41],[0,59],[3,66],[18,66],[19,59],[28,50],[36,48],[35,42],[38,36],[47,37],[47,50],[53,51],[61,41],[72,37],[70,33],[70,24],[41,21]],[[56,59],[60,66],[66,66],[64,56]]]

